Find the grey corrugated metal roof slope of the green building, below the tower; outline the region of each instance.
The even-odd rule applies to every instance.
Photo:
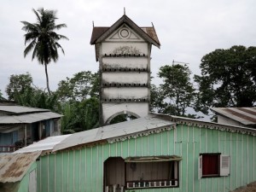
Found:
[[[151,114],[144,118],[133,119],[119,124],[106,125],[93,130],[74,133],[61,143],[55,145],[53,151],[71,148],[85,143],[99,142],[114,137],[129,136],[137,132],[154,130],[173,124],[175,123],[170,120],[160,119],[157,115]]]

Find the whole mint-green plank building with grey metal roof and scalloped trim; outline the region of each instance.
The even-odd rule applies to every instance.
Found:
[[[38,192],[228,192],[255,180],[256,131],[150,114],[68,136],[37,161]]]

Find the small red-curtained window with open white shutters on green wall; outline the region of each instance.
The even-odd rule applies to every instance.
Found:
[[[200,154],[199,178],[219,177],[230,174],[230,156],[219,153]]]

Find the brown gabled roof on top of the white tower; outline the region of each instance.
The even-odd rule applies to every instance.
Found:
[[[160,48],[160,41],[154,30],[154,26],[150,27],[139,27],[134,23],[127,15],[123,15],[119,20],[117,20],[110,27],[93,27],[93,31],[90,38],[90,44],[97,44],[102,42],[105,38],[119,28],[122,24],[126,24],[137,32],[142,38],[148,41],[151,44],[154,44],[156,47]]]

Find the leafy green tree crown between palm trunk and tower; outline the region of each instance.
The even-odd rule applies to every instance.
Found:
[[[61,101],[83,101],[89,97],[99,96],[100,90],[98,73],[82,71],[75,73],[73,78],[61,80],[58,84],[57,94]]]

